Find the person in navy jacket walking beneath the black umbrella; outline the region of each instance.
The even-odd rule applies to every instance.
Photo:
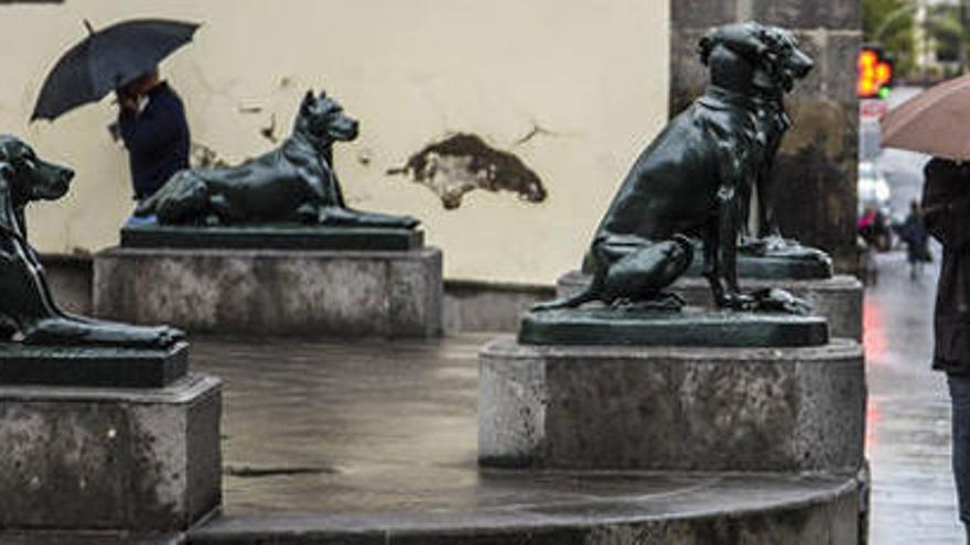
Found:
[[[118,133],[128,149],[134,199],[141,201],[188,167],[188,122],[182,99],[158,70],[127,84],[117,96]]]

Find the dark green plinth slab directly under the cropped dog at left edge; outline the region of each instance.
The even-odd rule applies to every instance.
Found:
[[[0,344],[2,385],[165,388],[187,370],[187,342],[168,350]]]

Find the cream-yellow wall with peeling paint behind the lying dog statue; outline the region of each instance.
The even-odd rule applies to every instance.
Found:
[[[324,86],[362,121],[336,150],[356,207],[410,212],[445,252],[449,277],[551,283],[574,268],[640,149],[667,117],[668,0],[68,0],[0,7],[0,127],[78,175],[39,205],[44,252],[117,242],[131,203],[106,100],[26,124],[44,75],[95,26],[133,17],[201,21],[162,66],[188,107],[193,138],[229,161],[285,134],[306,88]],[[240,110],[261,108],[258,113]],[[515,142],[538,124],[552,134]],[[449,131],[511,150],[542,178],[539,205],[476,190],[445,211],[427,187],[385,171]],[[368,164],[360,157],[369,157]]]

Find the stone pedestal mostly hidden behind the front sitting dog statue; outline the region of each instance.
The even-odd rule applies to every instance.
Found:
[[[590,277],[580,271],[572,271],[560,276],[556,284],[557,295],[568,296],[589,285]],[[829,334],[862,341],[862,282],[855,276],[836,275],[821,280],[765,280],[741,279],[741,286],[746,291],[764,287],[780,287],[791,292],[811,304],[815,314],[824,316],[829,321]],[[711,288],[708,281],[699,276],[683,276],[670,290],[685,298],[688,305],[713,306]]]

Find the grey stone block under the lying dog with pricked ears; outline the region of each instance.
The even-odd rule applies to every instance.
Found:
[[[434,337],[441,251],[117,248],[95,255],[100,317],[194,333]]]

